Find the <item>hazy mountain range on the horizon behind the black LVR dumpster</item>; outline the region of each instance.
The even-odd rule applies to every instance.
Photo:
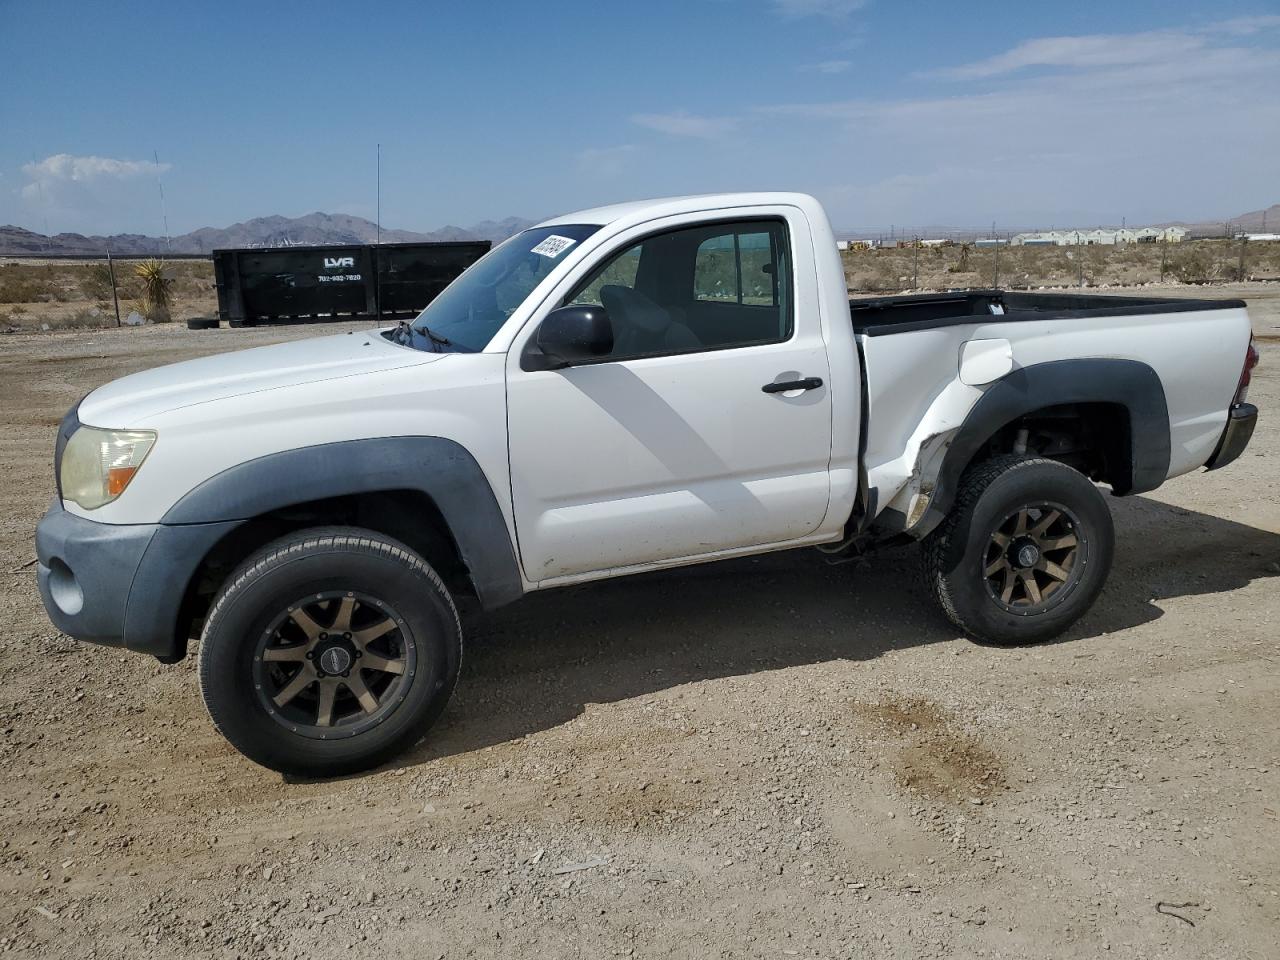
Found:
[[[508,216],[504,220],[483,220],[471,227],[442,227],[430,233],[389,230],[383,228],[383,243],[422,243],[428,241],[503,241],[531,227],[534,220]],[[372,243],[378,225],[362,216],[347,214],[307,214],[306,216],[257,216],[230,227],[201,227],[198,230],[172,237],[140,233],[118,233],[113,237],[86,237],[79,233],[58,233],[46,237],[22,227],[0,227],[0,256],[40,256],[88,253],[101,255],[108,247],[118,256],[138,253],[209,253],[223,247],[280,247],[338,243]]]

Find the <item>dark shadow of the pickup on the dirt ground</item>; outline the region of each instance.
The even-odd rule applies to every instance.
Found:
[[[1280,534],[1140,497],[1110,503],[1108,584],[1053,643],[1151,622],[1165,599],[1280,573]],[[585,704],[961,639],[919,585],[916,563],[914,547],[841,566],[805,549],[534,594],[468,625],[453,703],[402,763],[548,730]]]

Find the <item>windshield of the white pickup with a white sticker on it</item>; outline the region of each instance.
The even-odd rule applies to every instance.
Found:
[[[517,233],[445,287],[410,326],[401,328],[397,340],[416,349],[480,352],[564,253],[598,229],[558,224]]]

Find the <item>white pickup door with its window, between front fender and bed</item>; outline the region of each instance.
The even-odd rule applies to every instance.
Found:
[[[808,233],[792,216],[649,227],[570,278],[517,338],[507,420],[530,581],[786,544],[820,526],[829,374],[813,271],[797,282],[794,268]],[[567,302],[609,311],[614,351],[522,369],[538,321]],[[763,390],[804,378],[822,385]]]

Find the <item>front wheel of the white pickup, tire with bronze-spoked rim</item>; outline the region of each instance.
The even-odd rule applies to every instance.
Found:
[[[448,589],[410,548],[328,527],[265,547],[205,622],[200,686],[214,724],[282,773],[338,776],[412,745],[458,677]]]

